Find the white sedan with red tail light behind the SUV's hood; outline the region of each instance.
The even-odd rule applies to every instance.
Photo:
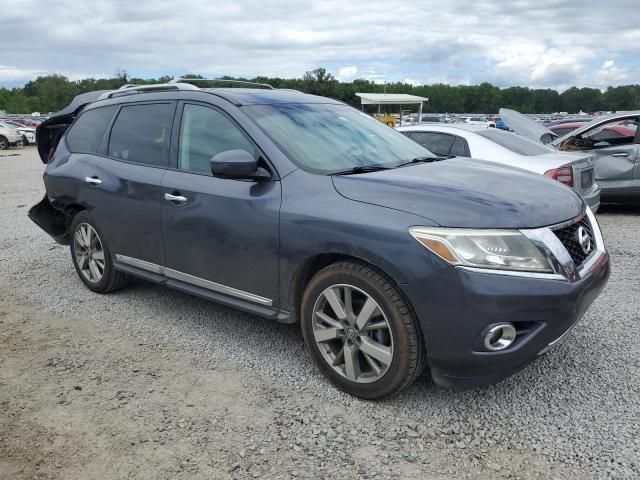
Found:
[[[593,212],[600,207],[589,155],[560,153],[514,133],[476,125],[424,123],[397,130],[442,157],[472,157],[539,173],[573,188]]]

